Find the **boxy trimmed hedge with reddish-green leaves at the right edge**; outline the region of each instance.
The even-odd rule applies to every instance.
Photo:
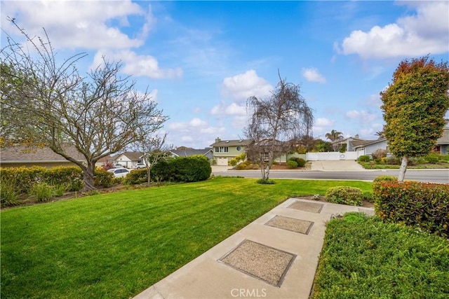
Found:
[[[373,193],[382,220],[449,237],[449,184],[384,181],[373,183]]]

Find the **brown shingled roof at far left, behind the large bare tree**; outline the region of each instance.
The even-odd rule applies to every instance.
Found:
[[[68,155],[72,156],[78,161],[85,161],[79,151],[76,150],[75,146],[66,146],[65,151]],[[29,148],[27,146],[8,146],[6,148],[1,148],[0,152],[1,163],[15,163],[15,162],[67,162],[67,160],[58,155],[50,148],[37,147]]]

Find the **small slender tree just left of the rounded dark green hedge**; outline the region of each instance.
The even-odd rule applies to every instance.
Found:
[[[152,168],[157,162],[170,156],[169,151],[173,146],[166,144],[166,137],[167,134],[163,134],[163,136],[156,134],[155,136],[143,138],[134,144],[135,150],[142,153],[142,159],[147,169],[148,183],[151,183]]]

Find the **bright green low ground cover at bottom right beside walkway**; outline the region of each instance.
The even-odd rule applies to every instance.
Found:
[[[330,221],[314,299],[449,298],[449,241],[350,213]]]

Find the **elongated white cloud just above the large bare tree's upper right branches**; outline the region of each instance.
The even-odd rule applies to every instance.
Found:
[[[98,51],[93,58],[91,69],[102,64],[102,57],[106,60],[121,61],[123,63],[123,73],[133,76],[147,76],[153,79],[173,79],[182,76],[182,69],[161,69],[156,58],[150,55],[137,55],[130,50]]]

